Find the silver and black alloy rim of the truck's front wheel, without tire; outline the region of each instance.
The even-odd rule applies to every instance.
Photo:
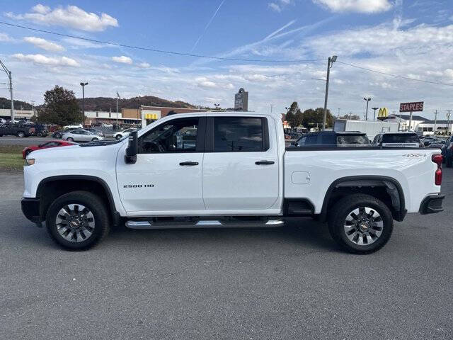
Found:
[[[61,208],[55,219],[57,231],[69,242],[83,242],[93,234],[94,216],[81,204],[69,204]]]

